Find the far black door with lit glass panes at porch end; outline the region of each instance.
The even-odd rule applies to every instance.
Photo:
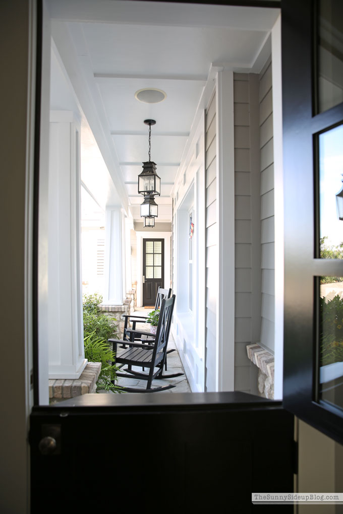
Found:
[[[159,287],[164,287],[164,239],[143,239],[143,307],[154,306]]]

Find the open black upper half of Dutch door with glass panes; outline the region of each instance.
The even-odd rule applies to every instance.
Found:
[[[340,443],[342,40],[340,0],[282,2],[284,406]]]

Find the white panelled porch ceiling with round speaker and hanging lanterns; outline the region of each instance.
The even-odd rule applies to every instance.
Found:
[[[50,0],[49,9],[79,106],[134,219],[142,203],[137,176],[148,160],[143,120],[156,120],[151,158],[161,177],[158,220],[171,221],[171,189],[211,65],[259,71],[256,59],[278,9],[128,0]],[[146,87],[164,90],[167,98],[139,102],[135,92]],[[113,198],[107,203],[118,201]]]

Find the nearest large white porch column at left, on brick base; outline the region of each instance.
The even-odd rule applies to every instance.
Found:
[[[48,190],[49,378],[79,378],[84,358],[80,251],[80,124],[50,113]]]

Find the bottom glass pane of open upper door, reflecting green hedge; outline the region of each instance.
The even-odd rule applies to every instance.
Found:
[[[343,409],[343,277],[320,277],[319,399]]]

